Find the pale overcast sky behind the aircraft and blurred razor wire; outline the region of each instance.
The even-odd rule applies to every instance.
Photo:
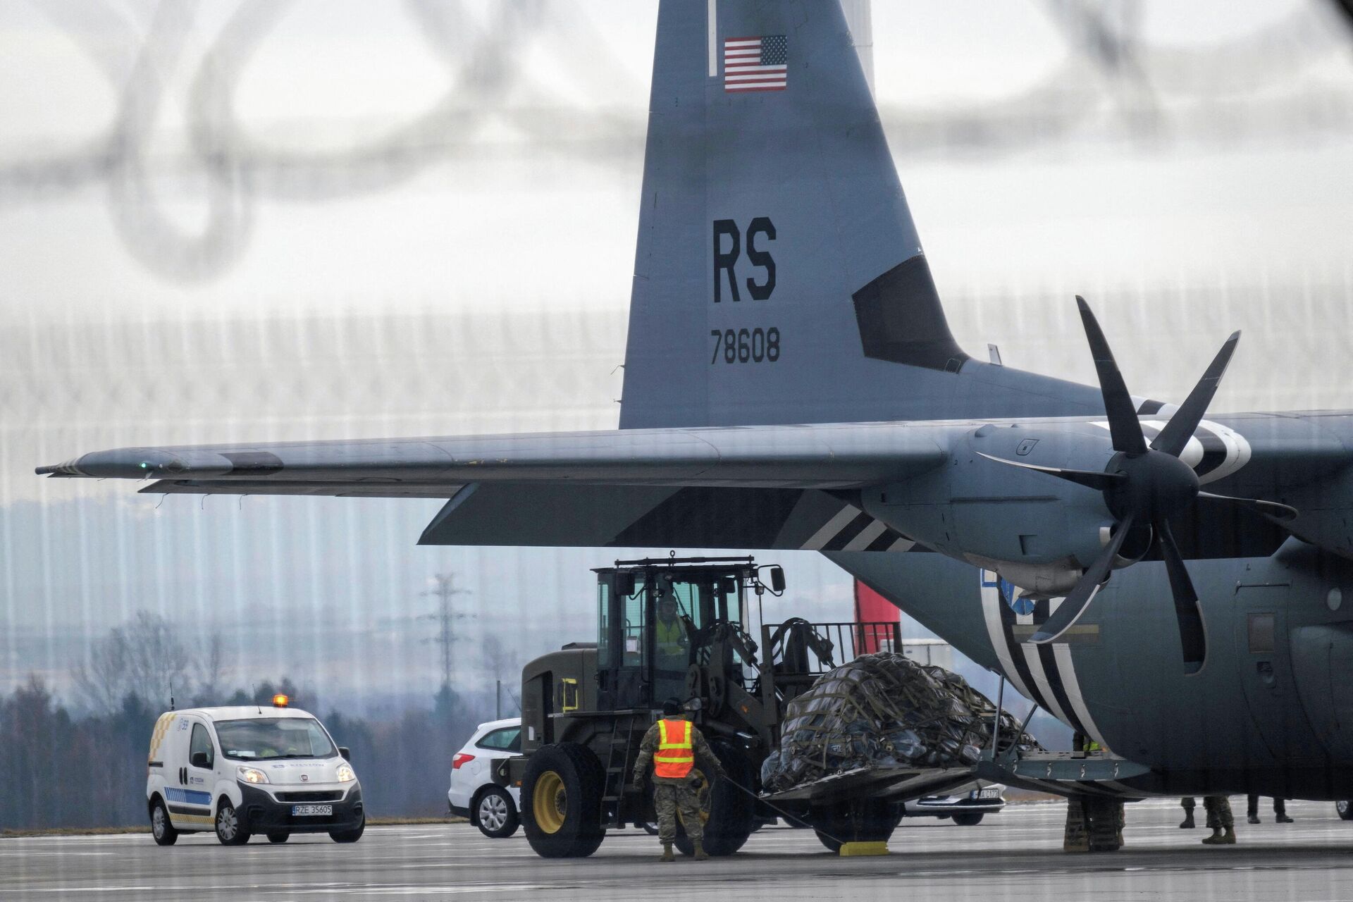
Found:
[[[1219,408],[1353,407],[1348,30],[1314,1],[1095,5],[874,4],[877,97],[961,343],[1091,380],[1080,292],[1138,394],[1183,396],[1243,329]],[[467,649],[591,629],[587,568],[613,554],[415,548],[436,502],[160,504],[31,468],[613,427],[655,18],[0,5],[0,691],[60,684],[138,607],[227,630],[241,679],[421,686],[436,649],[409,618],[445,571],[479,606]],[[1105,62],[1096,27],[1131,53]],[[796,604],[848,615],[844,575],[777,557]]]

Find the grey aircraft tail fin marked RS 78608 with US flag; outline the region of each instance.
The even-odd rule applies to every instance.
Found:
[[[1013,373],[961,377],[984,368],[944,318],[840,4],[663,0],[621,427],[1027,410],[1003,396]]]

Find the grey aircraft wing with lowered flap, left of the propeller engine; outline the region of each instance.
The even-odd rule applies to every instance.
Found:
[[[39,467],[143,492],[445,498],[422,544],[907,550],[835,494],[947,460],[900,423],[123,448]],[[842,492],[844,494],[844,492]]]

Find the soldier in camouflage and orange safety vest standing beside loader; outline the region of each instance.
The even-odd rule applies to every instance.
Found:
[[[682,717],[681,702],[670,698],[663,702],[663,717],[648,728],[639,745],[635,760],[633,783],[643,786],[648,765],[653,765],[653,809],[658,813],[658,841],[663,844],[659,861],[675,861],[672,840],[676,838],[676,810],[681,809],[686,836],[695,847],[695,860],[704,861],[705,826],[700,815],[697,790],[701,776],[695,769],[700,760],[706,776],[723,778],[724,765],[718,763],[709,742],[694,723]]]

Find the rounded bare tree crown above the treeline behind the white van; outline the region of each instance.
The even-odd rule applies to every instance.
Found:
[[[106,714],[129,695],[168,707],[172,694],[187,698],[188,664],[188,649],[173,623],[137,611],[95,642],[88,667],[76,669],[76,688],[93,710]]]

